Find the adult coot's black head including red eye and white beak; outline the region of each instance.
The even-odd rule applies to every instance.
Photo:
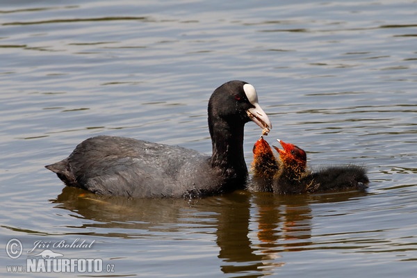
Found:
[[[251,120],[265,129],[265,133],[272,129],[268,116],[259,106],[253,85],[234,80],[215,89],[208,101],[210,129],[215,122],[225,121],[229,126],[243,126]]]

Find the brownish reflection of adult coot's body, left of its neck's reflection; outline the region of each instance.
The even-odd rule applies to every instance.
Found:
[[[76,218],[94,220],[79,228],[118,228],[129,229],[122,237],[147,236],[147,231],[177,231],[183,223],[183,214],[193,208],[193,202],[183,199],[128,199],[125,197],[99,196],[83,189],[65,186],[63,192],[51,202],[56,208],[64,208]],[[138,229],[138,233],[131,233]],[[83,234],[82,232],[79,234]],[[96,236],[115,236],[97,234]]]

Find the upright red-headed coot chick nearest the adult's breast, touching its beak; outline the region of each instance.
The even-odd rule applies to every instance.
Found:
[[[272,192],[272,181],[279,170],[279,162],[268,142],[259,138],[252,149],[254,160],[252,161],[252,183],[250,189],[258,192]]]

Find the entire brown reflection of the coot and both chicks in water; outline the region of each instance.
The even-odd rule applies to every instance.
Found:
[[[92,220],[76,227],[88,228],[89,232],[76,234],[157,239],[187,234],[195,227],[208,234],[215,229],[222,272],[259,277],[284,265],[281,252],[300,252],[311,245],[312,203],[343,202],[363,194],[366,193],[286,196],[240,191],[192,200],[126,199],[65,187],[51,202],[56,208],[72,211],[75,218]],[[100,234],[100,229],[92,232],[92,227],[106,228],[104,231],[116,228],[119,232]]]

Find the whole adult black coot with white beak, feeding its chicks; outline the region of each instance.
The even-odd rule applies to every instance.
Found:
[[[272,128],[254,86],[229,81],[208,101],[213,153],[131,138],[97,136],[76,146],[63,161],[47,165],[67,186],[99,195],[203,197],[245,188],[243,128],[252,120]]]

